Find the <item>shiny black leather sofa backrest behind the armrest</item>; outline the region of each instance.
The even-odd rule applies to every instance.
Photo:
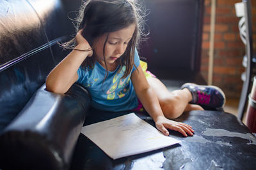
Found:
[[[17,116],[51,69],[65,57],[58,42],[73,30],[60,0],[0,1],[0,133]],[[67,36],[68,35],[68,36]]]

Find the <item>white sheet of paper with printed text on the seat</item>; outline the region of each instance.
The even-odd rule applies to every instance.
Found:
[[[149,152],[180,142],[164,136],[134,113],[86,125],[81,132],[112,159]]]

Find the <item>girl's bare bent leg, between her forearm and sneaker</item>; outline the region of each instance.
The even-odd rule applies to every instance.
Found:
[[[161,109],[166,118],[177,118],[184,111],[204,110],[196,104],[188,104],[191,101],[191,92],[188,89],[169,92],[165,85],[157,78],[147,78],[150,87],[156,92]]]

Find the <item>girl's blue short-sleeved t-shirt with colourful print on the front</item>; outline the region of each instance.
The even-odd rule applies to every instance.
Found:
[[[134,52],[134,64],[140,65],[140,57],[137,50]],[[131,73],[136,69],[133,66]],[[83,85],[92,95],[92,106],[99,110],[106,111],[125,111],[132,110],[138,106],[138,98],[135,94],[131,81],[131,73],[124,79],[125,66],[120,72],[118,66],[115,71],[109,71],[108,77],[102,85],[105,78],[106,69],[99,62],[95,62],[93,69],[88,71],[79,67],[77,70],[77,83]]]

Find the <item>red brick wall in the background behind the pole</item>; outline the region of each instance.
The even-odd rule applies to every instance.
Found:
[[[243,81],[241,74],[245,53],[239,36],[238,22],[234,8],[241,0],[216,0],[216,26],[214,37],[214,67],[212,84],[221,87],[227,98],[239,98]],[[252,0],[253,49],[256,52],[256,1]],[[209,39],[211,22],[211,0],[205,0],[204,30],[202,36],[201,73],[208,77]]]

